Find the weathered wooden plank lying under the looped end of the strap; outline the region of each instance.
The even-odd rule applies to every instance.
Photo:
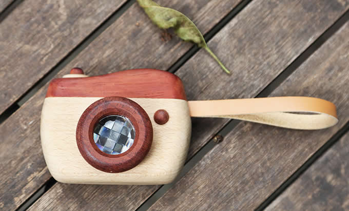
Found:
[[[151,208],[251,210],[263,202],[349,120],[348,33],[346,23],[270,95],[332,101],[336,126],[302,131],[241,122]]]

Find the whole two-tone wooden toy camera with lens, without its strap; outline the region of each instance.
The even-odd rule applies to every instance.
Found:
[[[154,69],[87,77],[75,68],[50,82],[41,117],[45,161],[63,183],[170,183],[190,133],[181,80]]]

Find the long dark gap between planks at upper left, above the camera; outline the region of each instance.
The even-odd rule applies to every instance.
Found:
[[[20,0],[23,1],[23,0]],[[36,91],[43,87],[47,82],[54,78],[54,76],[62,70],[69,62],[71,62],[81,51],[83,51],[96,37],[98,37],[104,30],[112,25],[131,5],[135,0],[125,2],[119,9],[115,10],[99,27],[94,29],[88,36],[85,37],[73,50],[63,57],[52,69],[50,69],[40,80],[38,80],[32,87],[30,87],[17,101],[15,101],[8,109],[0,114],[0,124],[2,124],[12,113],[20,108],[26,101],[28,101]],[[19,4],[19,3],[18,3]],[[16,4],[16,6],[18,5]],[[13,10],[14,8],[12,8]],[[11,10],[11,11],[12,11]],[[10,12],[11,12],[10,11]],[[1,18],[0,18],[1,23]]]

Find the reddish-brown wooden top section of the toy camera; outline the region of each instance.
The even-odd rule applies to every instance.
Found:
[[[177,75],[156,69],[133,69],[88,78],[53,79],[48,97],[124,97],[186,100]]]

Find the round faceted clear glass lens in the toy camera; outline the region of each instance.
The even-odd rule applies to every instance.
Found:
[[[106,154],[119,155],[134,141],[134,127],[129,119],[119,115],[101,119],[93,130],[94,143]]]

